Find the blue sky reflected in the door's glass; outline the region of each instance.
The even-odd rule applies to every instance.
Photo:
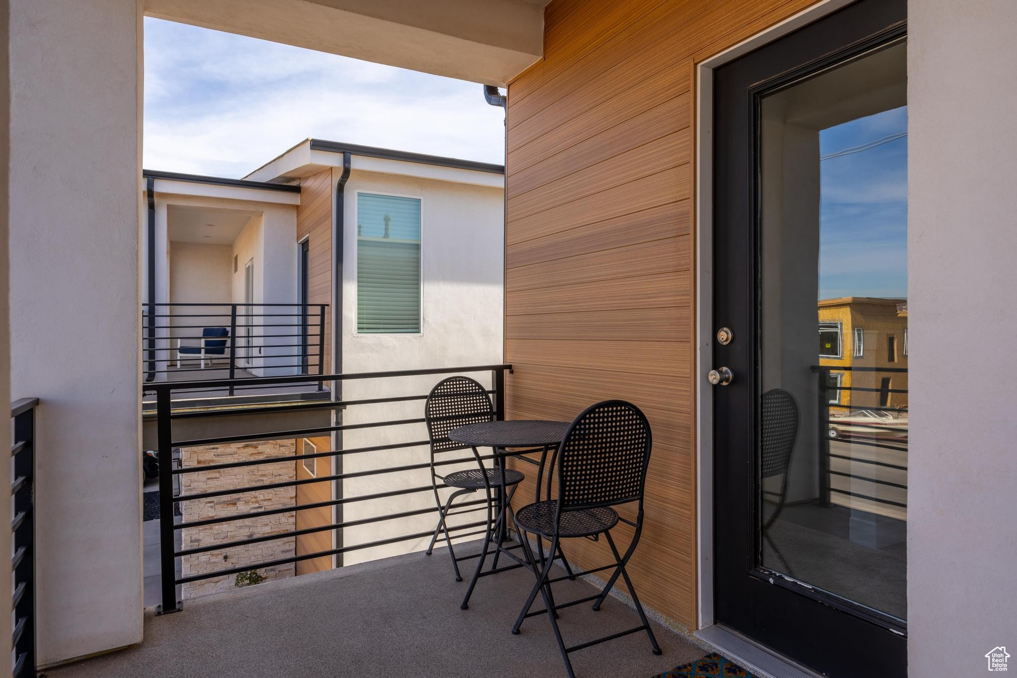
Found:
[[[820,132],[820,156],[907,131],[907,107]],[[907,136],[820,162],[820,299],[907,297]]]

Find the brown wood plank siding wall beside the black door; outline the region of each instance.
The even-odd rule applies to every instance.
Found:
[[[693,357],[695,64],[810,0],[553,0],[544,59],[508,86],[508,416],[621,397],[650,419],[643,602],[697,626]],[[533,496],[532,467],[519,498]],[[631,530],[619,525],[619,547]],[[627,533],[627,534],[626,534]],[[603,542],[570,540],[584,567]]]

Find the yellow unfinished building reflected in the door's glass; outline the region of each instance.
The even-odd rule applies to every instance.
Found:
[[[820,365],[845,368],[830,371],[832,410],[907,410],[907,300],[823,299],[819,321]]]

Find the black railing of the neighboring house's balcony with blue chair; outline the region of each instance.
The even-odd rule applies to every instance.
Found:
[[[145,385],[162,378],[206,380],[208,368],[230,380],[324,373],[327,304],[142,304]],[[318,387],[322,382],[318,381]],[[238,386],[224,386],[231,395]],[[152,392],[146,388],[146,392]]]

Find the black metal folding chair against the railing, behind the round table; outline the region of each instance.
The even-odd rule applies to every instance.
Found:
[[[496,494],[492,495],[491,490],[493,488],[497,492],[500,492],[502,487],[501,470],[498,468],[485,468],[483,460],[477,454],[477,450],[473,449],[479,468],[455,471],[446,476],[441,476],[437,469],[440,460],[436,458],[436,455],[442,452],[470,448],[469,445],[450,440],[450,431],[461,426],[467,426],[468,424],[493,421],[494,407],[491,405],[491,398],[488,396],[487,391],[476,380],[469,377],[448,377],[439,381],[431,389],[430,394],[427,396],[427,403],[424,405],[424,419],[427,421],[427,433],[431,439],[431,486],[434,489],[434,501],[438,506],[438,525],[434,528],[434,535],[431,537],[431,543],[427,547],[426,553],[427,555],[431,555],[438,537],[441,536],[441,533],[444,533],[445,545],[448,547],[448,555],[452,558],[452,566],[456,570],[456,580],[462,581],[463,576],[459,572],[459,561],[471,556],[457,558],[456,551],[452,546],[452,533],[446,522],[448,511],[456,497],[464,494],[472,494],[477,490],[484,490],[487,493],[487,531],[485,538],[490,539],[492,528],[493,533],[498,534],[500,521],[504,519],[504,516],[499,513],[497,518],[493,517],[491,504],[497,501],[498,497]],[[512,499],[516,487],[523,482],[524,478],[525,476],[519,471],[511,469],[505,471],[504,487],[507,494],[506,503]],[[448,495],[443,504],[441,498],[438,496],[438,488],[442,486],[456,489],[455,492]],[[495,560],[496,565],[497,561]],[[474,576],[473,583],[471,584],[471,593],[476,579],[477,577]],[[469,598],[469,594],[467,598]]]

